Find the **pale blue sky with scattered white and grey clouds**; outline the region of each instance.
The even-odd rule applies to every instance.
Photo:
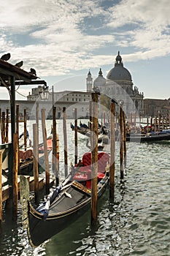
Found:
[[[170,98],[169,0],[1,0],[0,55],[36,69],[54,91],[85,91],[118,50],[144,99]],[[35,86],[17,88],[26,99]],[[9,99],[0,89],[0,99]]]

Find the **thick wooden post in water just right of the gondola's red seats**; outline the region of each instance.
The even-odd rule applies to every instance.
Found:
[[[109,196],[115,197],[115,103],[110,105],[110,167],[109,167]]]

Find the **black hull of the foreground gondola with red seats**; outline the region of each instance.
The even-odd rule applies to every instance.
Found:
[[[104,193],[108,180],[108,176],[105,176],[99,185],[98,198]],[[39,214],[31,206],[31,203],[28,203],[28,238],[32,246],[39,246],[39,244],[61,232],[61,230],[76,221],[90,208],[90,193],[82,192],[81,189],[76,187],[72,187],[72,189],[67,191],[72,195],[72,198],[61,195],[59,200],[56,200],[56,204],[53,203],[53,209],[50,210],[49,216],[45,220],[43,219],[43,214]],[[76,201],[78,203],[75,203]],[[65,208],[65,206],[66,209],[63,211],[62,208]]]

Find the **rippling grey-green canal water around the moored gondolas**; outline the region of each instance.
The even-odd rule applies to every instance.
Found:
[[[33,121],[31,121],[33,122]],[[68,162],[74,162],[74,132],[67,121]],[[86,122],[86,121],[85,121]],[[47,121],[47,134],[51,121]],[[30,136],[32,123],[28,124]],[[63,129],[60,139],[60,178],[63,178]],[[20,131],[23,129],[20,124]],[[86,138],[78,135],[79,157],[88,151]],[[4,211],[0,255],[49,256],[168,256],[170,255],[170,141],[127,143],[127,167],[120,182],[119,143],[116,143],[115,200],[109,191],[98,201],[98,220],[90,225],[90,211],[41,246],[32,248],[21,225]],[[108,148],[106,148],[108,150]],[[41,234],[39,234],[41,236]]]

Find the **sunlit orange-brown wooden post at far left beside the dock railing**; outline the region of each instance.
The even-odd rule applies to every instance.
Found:
[[[13,134],[13,171],[12,171],[12,219],[17,219],[18,213],[18,134]]]

